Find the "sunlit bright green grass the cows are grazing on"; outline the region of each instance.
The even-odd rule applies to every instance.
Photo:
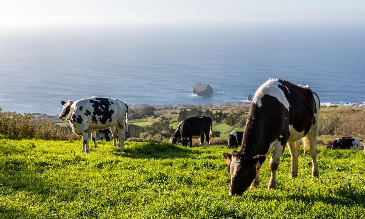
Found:
[[[291,179],[285,149],[278,189],[268,191],[268,160],[260,188],[229,197],[223,147],[193,149],[126,142],[125,152],[98,142],[0,136],[0,218],[364,218],[364,151],[319,148],[320,177],[299,158]]]

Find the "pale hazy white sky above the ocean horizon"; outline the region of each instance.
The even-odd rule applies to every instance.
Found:
[[[13,0],[0,27],[85,24],[364,23],[364,0]]]

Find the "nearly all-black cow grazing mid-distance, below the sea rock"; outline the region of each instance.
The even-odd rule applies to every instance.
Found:
[[[208,116],[194,116],[184,119],[180,126],[180,135],[182,146],[192,147],[193,136],[200,136],[200,143],[204,141],[204,135],[207,141],[207,147],[209,147],[209,139],[212,134],[212,118]]]

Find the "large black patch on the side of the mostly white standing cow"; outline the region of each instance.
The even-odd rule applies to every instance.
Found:
[[[90,100],[92,103],[92,107],[94,107],[94,111],[92,113],[92,120],[96,123],[96,116],[99,117],[99,121],[102,124],[106,124],[107,120],[109,122],[112,121],[112,115],[114,114],[114,110],[109,109],[111,106],[110,101],[107,98],[98,97],[96,100]]]

